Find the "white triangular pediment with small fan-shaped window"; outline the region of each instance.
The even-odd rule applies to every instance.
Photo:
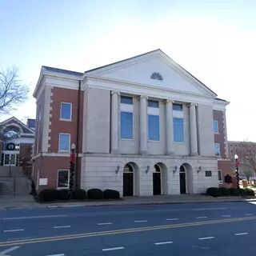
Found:
[[[164,54],[162,50],[154,50],[147,54],[89,70],[85,74],[115,81],[154,86],[159,89],[175,90],[186,94],[217,97],[217,94]]]

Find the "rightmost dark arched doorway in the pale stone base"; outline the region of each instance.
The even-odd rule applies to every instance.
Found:
[[[183,163],[179,168],[180,194],[193,193],[193,172],[188,163]]]

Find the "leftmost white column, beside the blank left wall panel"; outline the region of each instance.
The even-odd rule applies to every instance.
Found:
[[[111,91],[111,153],[118,152],[118,96],[117,91]]]

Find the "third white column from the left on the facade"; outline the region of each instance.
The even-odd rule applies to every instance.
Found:
[[[166,154],[174,154],[173,101],[166,99]]]

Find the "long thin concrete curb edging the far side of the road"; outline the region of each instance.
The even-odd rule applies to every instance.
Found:
[[[249,199],[250,200],[250,199]],[[198,201],[193,201],[193,202],[140,202],[140,203],[127,203],[127,204],[122,204],[122,205],[118,205],[118,204],[99,204],[99,205],[71,205],[71,206],[66,206],[66,205],[62,205],[62,206],[39,206],[39,207],[6,207],[3,208],[2,210],[34,210],[34,209],[57,209],[57,208],[82,208],[82,207],[104,207],[104,206],[154,206],[154,205],[182,205],[182,204],[202,204],[202,203],[226,203],[226,202],[256,202],[256,199],[252,200],[252,201],[244,201],[242,199],[238,199],[238,200],[223,200],[223,201],[206,201],[206,202],[198,202]]]

